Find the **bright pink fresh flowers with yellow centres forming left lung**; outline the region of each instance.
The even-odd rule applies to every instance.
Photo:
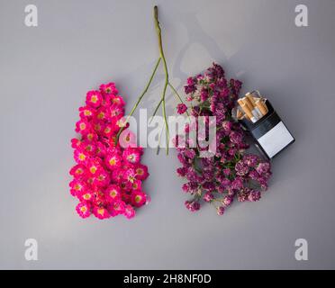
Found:
[[[86,105],[79,108],[76,131],[81,137],[71,139],[77,165],[69,172],[69,186],[82,218],[122,214],[131,219],[136,208],[149,202],[141,188],[149,176],[148,167],[140,163],[143,149],[130,130],[116,140],[124,125],[124,105],[114,83],[109,83],[87,92]]]

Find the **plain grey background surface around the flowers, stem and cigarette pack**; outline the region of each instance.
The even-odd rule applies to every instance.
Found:
[[[26,4],[39,8],[37,28],[23,23]],[[158,58],[154,4],[180,91],[215,60],[243,93],[271,100],[296,142],[273,161],[262,200],[222,217],[186,211],[175,151],[147,149],[152,202],[133,220],[81,220],[68,193],[77,108],[111,80],[131,108]],[[296,4],[309,27],[294,25]],[[335,267],[335,1],[1,0],[0,14],[1,268]],[[162,72],[143,106],[157,101]],[[24,259],[26,238],[38,261]],[[295,260],[296,238],[308,261]]]

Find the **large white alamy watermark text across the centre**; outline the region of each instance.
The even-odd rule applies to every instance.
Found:
[[[154,116],[148,119],[147,109],[140,109],[139,123],[132,116],[125,116],[119,121],[123,127],[119,143],[122,147],[137,146],[142,148],[200,148],[200,157],[213,157],[216,153],[216,117],[215,116],[168,116],[168,130],[164,117]],[[167,143],[168,137],[168,143]],[[124,140],[127,139],[127,140]],[[134,139],[130,145],[129,139]]]

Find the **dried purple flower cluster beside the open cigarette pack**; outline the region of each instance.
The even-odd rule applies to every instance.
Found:
[[[221,66],[213,64],[204,75],[189,77],[185,86],[186,101],[192,103],[191,115],[216,117],[216,153],[214,157],[199,157],[201,147],[177,147],[177,157],[182,164],[177,174],[186,178],[183,190],[192,196],[186,208],[198,211],[202,202],[214,205],[222,215],[234,199],[239,202],[255,202],[261,191],[267,190],[271,175],[270,164],[257,155],[245,154],[249,148],[240,123],[231,117],[240,93],[241,82],[227,81]],[[186,112],[187,107],[177,105],[177,112]],[[197,129],[188,125],[186,132]],[[189,144],[189,143],[188,143]]]

